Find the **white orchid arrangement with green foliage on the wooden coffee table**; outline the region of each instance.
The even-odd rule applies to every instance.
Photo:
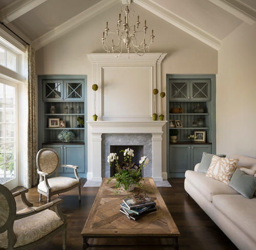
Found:
[[[140,158],[139,161],[139,168],[132,169],[132,157],[134,156],[133,154],[133,149],[132,148],[126,148],[125,150],[121,150],[120,152],[123,152],[124,155],[124,162],[129,162],[128,169],[121,169],[121,166],[118,163],[118,156],[116,153],[110,153],[108,156],[108,162],[109,165],[112,165],[112,162],[116,161],[116,169],[118,170],[118,173],[115,173],[113,177],[111,177],[108,180],[108,183],[111,181],[115,181],[116,185],[115,187],[122,188],[125,191],[133,191],[136,186],[143,187],[141,184],[141,181],[143,180],[141,176],[141,169],[142,167],[145,167],[146,164],[150,161],[146,156],[143,156]],[[117,194],[118,191],[115,192]]]

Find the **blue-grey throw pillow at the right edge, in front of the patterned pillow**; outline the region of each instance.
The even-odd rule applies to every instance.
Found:
[[[236,169],[229,182],[229,186],[250,199],[256,189],[256,177],[248,176],[248,174],[240,169]]]

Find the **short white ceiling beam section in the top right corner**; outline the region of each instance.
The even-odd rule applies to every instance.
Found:
[[[223,10],[252,25],[256,21],[256,11],[237,0],[208,0]]]

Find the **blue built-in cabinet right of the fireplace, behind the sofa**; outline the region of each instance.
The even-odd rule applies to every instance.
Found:
[[[201,161],[203,152],[216,153],[216,76],[208,74],[167,74],[166,76],[167,173],[168,178],[184,177]],[[203,109],[194,113],[197,105]],[[172,109],[173,108],[173,109]],[[181,108],[182,113],[174,113]],[[181,127],[173,128],[172,121]],[[200,121],[200,122],[199,122]],[[203,125],[201,125],[203,121]],[[174,122],[175,123],[175,122]],[[195,123],[197,127],[195,127]],[[200,127],[199,127],[200,125]],[[170,140],[170,131],[177,129],[177,142]],[[204,131],[205,142],[191,143],[187,137],[195,131]]]

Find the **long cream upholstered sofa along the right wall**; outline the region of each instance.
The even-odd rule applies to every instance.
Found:
[[[228,158],[239,159],[238,167],[256,176],[255,158],[240,155],[231,155]],[[187,170],[185,173],[186,192],[239,249],[255,250],[255,192],[253,197],[248,199],[228,184],[208,178],[205,173],[198,172],[199,164],[195,166],[194,171]]]

